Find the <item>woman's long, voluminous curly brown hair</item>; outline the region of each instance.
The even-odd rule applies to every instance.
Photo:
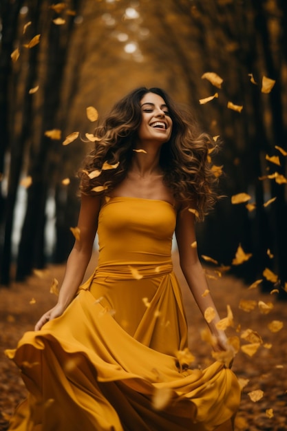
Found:
[[[147,93],[163,98],[173,121],[171,138],[160,151],[164,184],[177,202],[194,209],[196,218],[203,220],[217,201],[217,175],[209,156],[215,141],[209,134],[200,133],[187,109],[176,105],[157,87],[140,87],[127,94],[96,128],[95,147],[78,173],[81,192],[108,194],[127,176],[142,120],[140,101]]]

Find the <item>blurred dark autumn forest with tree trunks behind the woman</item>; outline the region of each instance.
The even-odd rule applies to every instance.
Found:
[[[226,197],[198,224],[213,275],[228,267],[286,299],[286,0],[1,0],[0,17],[0,284],[65,262],[97,124],[86,108],[101,118],[146,85],[224,142]]]

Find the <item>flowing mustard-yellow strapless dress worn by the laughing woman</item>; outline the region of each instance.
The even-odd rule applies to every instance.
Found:
[[[171,263],[175,225],[175,209],[162,200],[103,205],[96,271],[61,317],[6,351],[29,391],[10,430],[228,427],[240,403],[233,372],[219,362],[192,370],[177,361],[187,322]]]

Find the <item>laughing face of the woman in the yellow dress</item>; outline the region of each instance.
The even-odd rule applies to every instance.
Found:
[[[166,143],[171,137],[172,120],[163,98],[155,93],[147,93],[140,101],[142,122],[138,129],[140,143]]]

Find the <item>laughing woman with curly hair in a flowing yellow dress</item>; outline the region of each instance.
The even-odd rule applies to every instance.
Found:
[[[220,362],[189,368],[171,264],[176,231],[195,301],[202,314],[215,310],[191,246],[195,215],[204,218],[216,199],[212,140],[165,92],[145,87],[118,102],[95,136],[58,302],[7,353],[29,391],[10,430],[232,430],[237,380]],[[80,286],[96,231],[98,267]],[[215,312],[209,328],[215,350],[226,350],[219,320]]]

